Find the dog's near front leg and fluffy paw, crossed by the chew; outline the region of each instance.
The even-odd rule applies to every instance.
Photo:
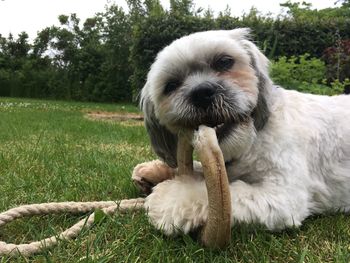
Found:
[[[291,190],[293,189],[293,190]],[[281,185],[230,184],[232,224],[257,223],[269,230],[299,226],[308,215],[306,191]],[[207,220],[208,200],[200,178],[179,176],[158,184],[145,203],[152,224],[166,234],[188,233]]]

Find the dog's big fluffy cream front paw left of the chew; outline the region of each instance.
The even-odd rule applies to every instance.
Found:
[[[195,230],[208,216],[205,182],[188,176],[162,182],[146,198],[145,208],[150,222],[167,235]]]

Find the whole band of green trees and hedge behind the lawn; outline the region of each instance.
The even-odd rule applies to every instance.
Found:
[[[251,28],[260,49],[278,61],[273,68],[281,73],[274,75],[278,82],[303,90],[301,83],[319,85],[322,72],[327,75],[322,85],[343,85],[350,78],[350,11],[347,0],[340,2],[323,10],[286,2],[286,14],[277,18],[254,8],[241,17],[226,8],[214,17],[192,0],[171,0],[169,10],[159,0],[127,0],[128,13],[110,5],[84,22],[76,14],[60,15],[60,26],[44,28],[33,43],[25,32],[17,38],[0,35],[0,96],[136,101],[163,47],[193,32],[237,27]],[[313,57],[323,58],[326,73]],[[298,71],[299,79],[285,71]]]

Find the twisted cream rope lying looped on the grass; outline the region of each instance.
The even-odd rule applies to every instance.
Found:
[[[143,209],[144,199],[124,199],[121,201],[100,201],[100,202],[61,202],[23,205],[12,208],[0,214],[0,227],[16,219],[34,215],[48,214],[82,214],[101,209],[106,215],[113,215],[116,212],[134,211]],[[83,218],[72,227],[66,229],[57,236],[48,237],[40,241],[28,244],[8,244],[0,241],[0,256],[30,256],[41,252],[44,249],[56,245],[60,240],[70,240],[76,237],[82,229],[89,228],[95,221],[95,213]]]

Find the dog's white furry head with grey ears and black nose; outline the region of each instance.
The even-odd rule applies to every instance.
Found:
[[[148,73],[141,107],[155,152],[176,166],[176,134],[204,124],[224,140],[239,126],[264,127],[268,60],[248,29],[199,32],[165,47]]]

